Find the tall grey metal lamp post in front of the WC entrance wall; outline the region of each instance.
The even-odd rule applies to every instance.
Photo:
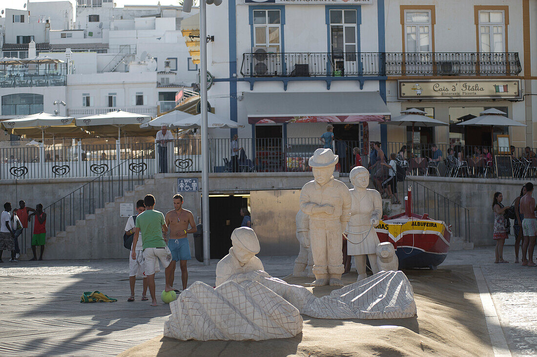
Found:
[[[201,217],[203,224],[203,261],[211,264],[209,240],[209,133],[207,132],[207,4],[222,0],[200,1],[200,100],[201,100]],[[183,2],[183,12],[190,12],[192,0]]]

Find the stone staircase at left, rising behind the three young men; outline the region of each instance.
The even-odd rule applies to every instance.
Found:
[[[47,260],[127,257],[128,250],[123,246],[126,218],[119,216],[120,204],[132,202],[135,205],[137,200],[156,189],[155,179],[146,179],[142,185],[135,185],[134,191],[125,191],[114,202],[106,202],[104,208],[95,209],[95,213],[86,214],[84,220],[77,220],[75,225],[68,225],[66,230],[47,238],[43,256]],[[31,257],[32,251],[28,249],[20,259]]]

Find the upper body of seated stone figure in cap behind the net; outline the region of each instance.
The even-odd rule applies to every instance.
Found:
[[[256,232],[249,227],[236,228],[231,233],[229,254],[216,264],[216,286],[226,282],[235,274],[265,270],[259,253],[259,241]]]

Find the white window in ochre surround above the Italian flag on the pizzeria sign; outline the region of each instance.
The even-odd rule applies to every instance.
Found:
[[[480,52],[505,51],[505,18],[503,11],[479,12]]]

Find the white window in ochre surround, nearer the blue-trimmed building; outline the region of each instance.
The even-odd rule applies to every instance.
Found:
[[[431,52],[431,11],[404,12],[405,52]]]

